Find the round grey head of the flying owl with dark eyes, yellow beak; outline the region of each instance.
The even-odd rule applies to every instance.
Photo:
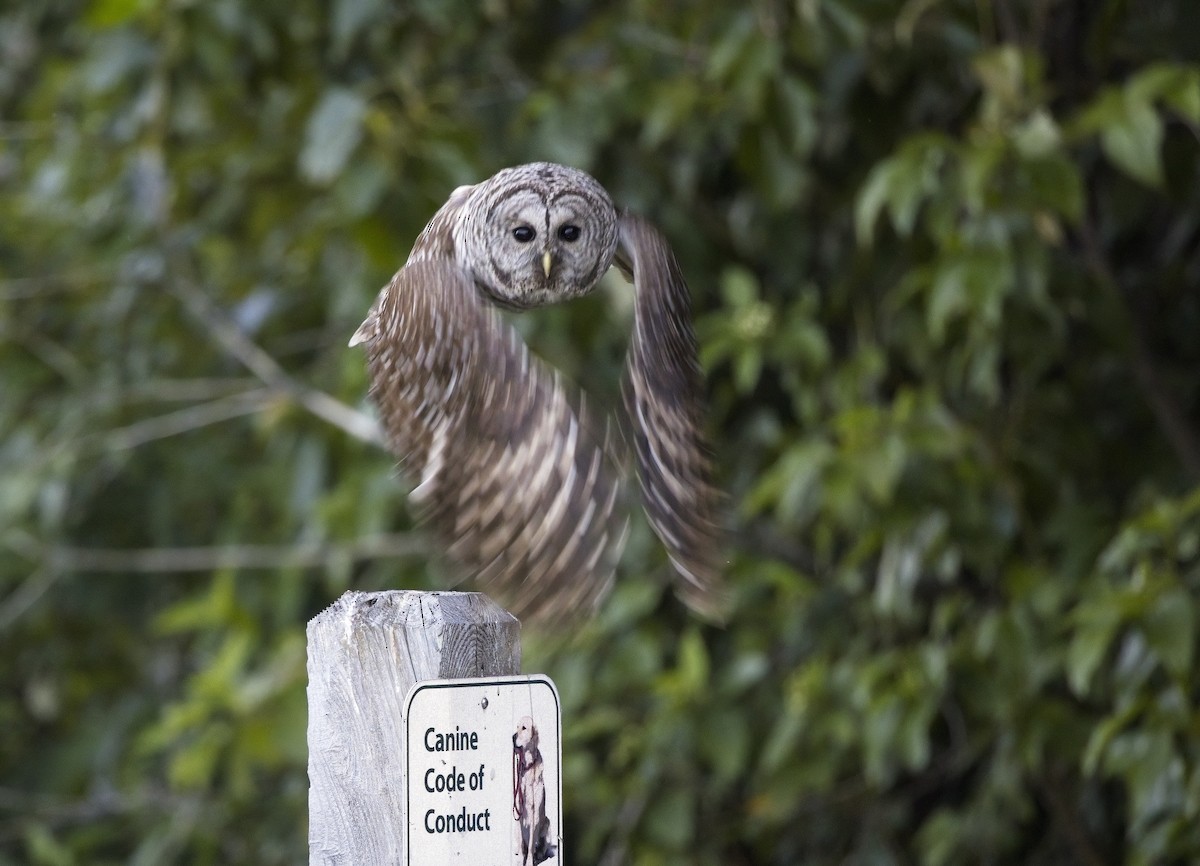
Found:
[[[498,303],[527,308],[590,291],[617,249],[617,209],[589,174],[534,162],[470,190],[455,258]]]

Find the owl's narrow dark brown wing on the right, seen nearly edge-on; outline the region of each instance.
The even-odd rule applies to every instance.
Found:
[[[622,383],[642,505],[667,548],[680,597],[719,618],[721,495],[704,438],[706,402],[688,285],[666,239],[650,223],[620,217],[617,265],[632,275],[634,336]]]

